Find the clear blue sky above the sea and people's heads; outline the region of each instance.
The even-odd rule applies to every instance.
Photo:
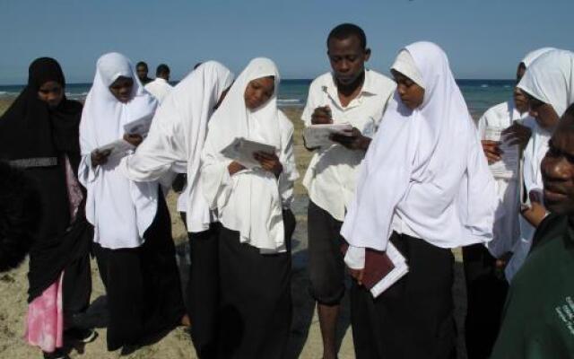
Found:
[[[283,78],[329,69],[325,40],[341,22],[367,33],[369,66],[387,73],[416,40],[447,51],[457,78],[511,78],[527,51],[572,49],[574,0],[3,0],[0,84],[24,83],[35,57],[56,57],[69,83],[91,82],[100,55],[165,62],[179,79],[217,59],[239,73],[271,57]]]

